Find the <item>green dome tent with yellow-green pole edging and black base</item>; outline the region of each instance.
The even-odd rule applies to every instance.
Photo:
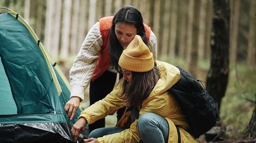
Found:
[[[0,10],[0,142],[74,142],[67,78],[29,24]]]

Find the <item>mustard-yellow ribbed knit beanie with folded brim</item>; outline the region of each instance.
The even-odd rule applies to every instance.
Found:
[[[139,35],[123,50],[119,58],[119,66],[123,69],[136,72],[146,72],[154,68],[153,54]]]

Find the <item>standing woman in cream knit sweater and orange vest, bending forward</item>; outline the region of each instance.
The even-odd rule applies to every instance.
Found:
[[[101,18],[93,25],[70,70],[71,100],[65,105],[68,119],[73,119],[89,83],[90,105],[103,99],[113,90],[117,72],[122,75],[118,65],[119,57],[135,35],[142,37],[156,59],[157,39],[150,27],[143,24],[141,13],[136,8],[123,7],[114,17]],[[118,109],[117,120],[123,112],[124,108]],[[110,115],[114,113],[115,111]],[[89,125],[89,132],[104,126],[103,118]]]

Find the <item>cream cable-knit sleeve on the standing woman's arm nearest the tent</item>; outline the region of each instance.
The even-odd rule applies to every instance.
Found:
[[[99,22],[97,22],[85,37],[81,49],[74,60],[73,67],[69,71],[70,97],[76,96],[82,100],[84,99],[84,91],[89,86],[102,44]]]

